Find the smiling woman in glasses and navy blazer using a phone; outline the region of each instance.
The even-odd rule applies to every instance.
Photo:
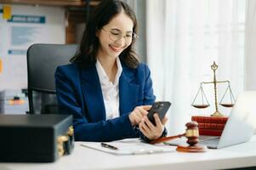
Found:
[[[135,14],[128,4],[104,0],[87,23],[70,65],[55,72],[61,114],[73,115],[75,139],[111,141],[166,135],[167,118],[147,118],[155,101],[149,68],[133,51]]]

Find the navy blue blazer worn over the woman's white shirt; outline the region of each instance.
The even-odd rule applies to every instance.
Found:
[[[61,65],[55,71],[55,84],[59,111],[73,116],[75,139],[82,141],[139,137],[139,129],[131,126],[128,114],[136,106],[152,105],[156,99],[151,72],[145,64],[131,69],[122,63],[119,78],[120,116],[111,120],[105,120],[105,105],[95,65],[88,68],[81,68],[77,64]]]

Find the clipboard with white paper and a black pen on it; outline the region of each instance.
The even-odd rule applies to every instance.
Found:
[[[139,154],[154,154],[174,151],[174,146],[165,144],[146,144],[139,139],[123,139],[113,142],[83,142],[84,147],[100,150],[114,155],[139,155]],[[105,145],[109,145],[105,146]]]

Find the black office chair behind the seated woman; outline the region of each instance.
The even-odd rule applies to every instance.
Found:
[[[54,72],[69,63],[77,45],[33,44],[27,50],[29,114],[57,114]]]

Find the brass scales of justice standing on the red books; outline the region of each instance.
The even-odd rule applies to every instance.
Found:
[[[235,104],[235,98],[234,95],[232,93],[232,90],[230,88],[230,81],[217,81],[216,80],[216,70],[218,69],[218,65],[215,64],[215,61],[213,61],[213,65],[211,65],[211,69],[213,70],[213,82],[201,82],[200,83],[200,88],[198,89],[197,93],[196,93],[196,97],[192,102],[192,106],[196,107],[197,109],[204,109],[207,108],[209,105],[208,99],[203,91],[202,85],[203,84],[213,84],[214,86],[214,101],[215,101],[215,112],[211,115],[211,116],[223,116],[219,110],[218,110],[218,99],[217,99],[217,84],[218,83],[228,83],[228,86],[225,90],[225,94],[223,95],[222,99],[219,102],[219,105],[222,105],[224,107],[233,107]],[[230,94],[230,102],[229,103],[224,103],[223,99],[226,98],[227,93]],[[201,94],[201,104],[195,104],[196,99],[199,97],[199,94]]]

